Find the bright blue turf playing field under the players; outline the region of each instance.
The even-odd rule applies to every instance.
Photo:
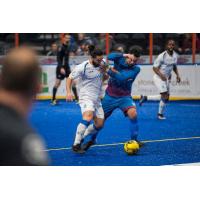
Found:
[[[45,139],[47,148],[52,149],[48,151],[52,165],[155,166],[200,162],[200,101],[170,102],[165,121],[156,119],[157,107],[157,102],[137,106],[139,138],[147,143],[135,156],[126,155],[120,144],[129,140],[128,120],[120,110],[112,114],[100,132],[98,144],[102,146],[93,147],[84,155],[74,154],[69,148],[81,119],[77,104],[61,101],[52,107],[49,101],[38,101],[30,121]]]

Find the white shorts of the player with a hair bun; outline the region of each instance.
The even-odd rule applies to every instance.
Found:
[[[97,118],[104,119],[104,111],[101,102],[94,103],[91,100],[80,100],[79,105],[81,107],[82,114],[86,111],[93,111],[94,116],[96,116]]]

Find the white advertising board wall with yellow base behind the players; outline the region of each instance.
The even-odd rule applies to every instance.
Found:
[[[75,65],[72,66],[72,68]],[[42,66],[42,92],[38,95],[38,99],[50,99],[52,88],[55,83],[56,65]],[[172,72],[171,80],[171,99],[200,99],[200,66],[197,65],[178,65],[181,76],[181,83],[176,83],[176,75]],[[141,65],[140,74],[137,76],[132,87],[132,96],[138,98],[139,95],[155,95],[158,90],[153,83],[154,72],[152,65]],[[66,96],[66,80],[63,80],[58,89],[57,97],[65,98]]]

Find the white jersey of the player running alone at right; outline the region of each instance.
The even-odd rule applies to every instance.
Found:
[[[159,68],[160,72],[169,78],[174,66],[177,65],[177,60],[178,54],[175,51],[173,52],[172,56],[169,55],[167,51],[164,51],[158,55],[153,66]]]

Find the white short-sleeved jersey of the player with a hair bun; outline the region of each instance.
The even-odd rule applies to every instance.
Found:
[[[79,100],[91,100],[92,102],[100,101],[102,90],[102,73],[99,67],[94,67],[89,60],[77,65],[69,78],[77,81],[79,91]]]

